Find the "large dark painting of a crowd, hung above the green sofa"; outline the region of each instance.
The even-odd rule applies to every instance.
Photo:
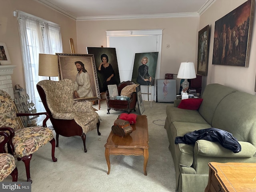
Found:
[[[254,0],[248,0],[215,22],[212,64],[248,67]]]

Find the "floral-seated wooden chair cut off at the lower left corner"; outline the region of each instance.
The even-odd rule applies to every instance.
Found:
[[[8,175],[12,176],[12,181],[18,180],[18,169],[15,166],[12,154],[6,153],[4,145],[10,140],[10,136],[6,132],[0,132],[0,182]]]

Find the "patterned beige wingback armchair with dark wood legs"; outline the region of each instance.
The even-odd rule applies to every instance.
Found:
[[[69,79],[42,80],[36,87],[56,132],[56,147],[59,144],[59,135],[81,136],[84,152],[87,152],[86,133],[97,127],[100,135],[100,121],[98,113],[92,108],[92,102],[75,101],[73,99],[74,82]]]

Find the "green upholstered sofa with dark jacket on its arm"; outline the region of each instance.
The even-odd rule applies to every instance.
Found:
[[[208,162],[256,163],[256,96],[220,84],[208,84],[198,110],[166,107],[166,129],[176,172],[176,191],[203,192],[208,183]],[[219,142],[197,140],[195,145],[174,144],[176,136],[205,128],[226,130],[241,144],[233,153]]]

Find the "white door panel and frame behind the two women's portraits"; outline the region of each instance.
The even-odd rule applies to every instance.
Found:
[[[120,81],[132,80],[132,70],[135,53],[158,52],[158,62],[155,79],[159,78],[160,58],[162,46],[162,29],[160,30],[128,30],[128,31],[106,31],[107,47],[116,48]],[[156,83],[156,81],[155,81]],[[152,86],[141,86],[143,100],[155,100],[156,90]]]

